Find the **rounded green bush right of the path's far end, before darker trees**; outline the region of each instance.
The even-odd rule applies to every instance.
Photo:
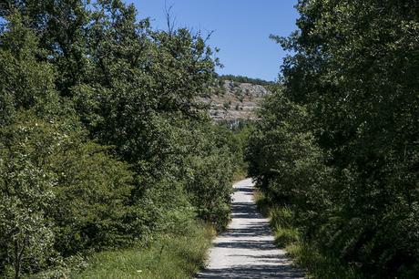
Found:
[[[320,190],[330,182],[331,170],[324,164],[325,157],[312,132],[304,128],[306,109],[291,103],[280,89],[266,98],[261,115],[246,157],[250,176],[272,200],[300,207],[314,203],[320,210],[319,206],[328,202]]]

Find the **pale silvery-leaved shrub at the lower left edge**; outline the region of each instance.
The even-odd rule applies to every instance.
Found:
[[[54,233],[46,212],[56,177],[28,160],[25,141],[1,144],[0,150],[0,270],[13,266],[15,278],[20,278],[42,267],[52,254]]]

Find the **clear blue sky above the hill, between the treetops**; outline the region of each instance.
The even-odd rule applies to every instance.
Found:
[[[296,29],[297,0],[166,0],[173,5],[178,27],[215,31],[211,47],[219,47],[224,68],[220,74],[274,80],[278,77],[281,47],[271,34],[288,36]],[[128,0],[140,18],[150,17],[154,28],[165,29],[165,0]]]

